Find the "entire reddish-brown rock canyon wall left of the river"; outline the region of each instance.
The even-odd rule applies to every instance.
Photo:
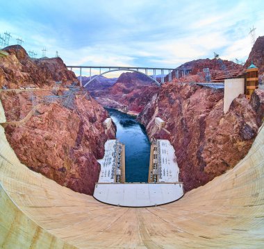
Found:
[[[21,121],[5,125],[6,137],[19,160],[33,171],[74,191],[92,194],[99,178],[97,159],[104,156],[106,140],[115,139],[115,126],[105,130],[108,113],[88,92],[70,92],[65,87],[54,92],[54,81],[76,80],[61,59],[31,62],[24,52],[16,51],[18,58],[11,53],[0,59],[5,83],[15,88],[38,83],[42,89],[0,93],[7,121]],[[21,78],[15,81],[18,75]]]

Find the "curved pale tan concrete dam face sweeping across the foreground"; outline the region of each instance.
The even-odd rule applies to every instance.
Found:
[[[263,248],[263,126],[233,169],[174,203],[140,208],[62,187],[21,164],[1,126],[0,138],[0,248]]]

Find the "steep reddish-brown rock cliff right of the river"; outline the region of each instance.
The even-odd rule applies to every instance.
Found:
[[[185,191],[206,184],[235,166],[256,137],[263,119],[263,91],[257,101],[236,98],[223,113],[223,91],[187,83],[167,83],[140,113],[149,137],[169,139],[176,151]],[[253,102],[255,104],[253,104]],[[155,117],[166,122],[158,130]]]

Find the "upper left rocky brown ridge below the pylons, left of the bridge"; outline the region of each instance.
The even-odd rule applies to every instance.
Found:
[[[19,88],[33,85],[50,87],[54,81],[77,82],[74,72],[60,58],[29,58],[22,46],[8,46],[4,51],[10,55],[0,58],[0,87]]]

